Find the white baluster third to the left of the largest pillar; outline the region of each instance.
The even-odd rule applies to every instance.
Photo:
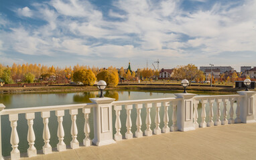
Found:
[[[55,115],[58,117],[58,131],[57,131],[57,135],[58,135],[58,139],[59,139],[59,143],[57,144],[58,151],[66,151],[66,144],[63,141],[65,134],[64,134],[64,128],[62,125],[64,114],[65,114],[64,110],[55,111]]]

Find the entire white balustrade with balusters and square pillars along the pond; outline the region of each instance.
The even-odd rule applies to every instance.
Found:
[[[133,101],[115,101],[108,97],[105,98],[92,98],[92,103],[84,103],[77,105],[58,105],[49,107],[31,107],[21,109],[4,109],[5,106],[0,104],[0,115],[9,115],[9,121],[11,122],[11,159],[19,159],[20,153],[17,148],[19,145],[19,136],[17,134],[17,121],[19,114],[25,114],[27,119],[28,131],[27,142],[29,148],[27,149],[27,156],[33,157],[37,155],[37,150],[34,147],[35,133],[34,133],[34,119],[35,113],[40,112],[44,123],[44,130],[42,139],[44,139],[44,146],[42,147],[43,153],[52,153],[52,147],[50,145],[50,131],[48,127],[50,111],[54,111],[56,117],[58,117],[58,144],[57,150],[66,150],[66,144],[64,143],[64,127],[62,124],[64,117],[64,110],[69,110],[71,115],[72,125],[70,132],[72,135],[72,141],[70,141],[71,149],[76,149],[79,146],[79,142],[76,139],[78,135],[78,128],[76,125],[76,115],[78,109],[82,109],[84,113],[84,146],[90,146],[92,143],[95,145],[108,145],[116,143],[123,138],[132,139],[133,137],[151,136],[153,134],[158,135],[162,133],[169,133],[170,131],[190,131],[198,127],[211,127],[213,125],[227,125],[233,123],[253,123],[256,122],[256,92],[253,91],[240,91],[239,95],[211,95],[211,96],[196,96],[191,93],[176,93],[176,97],[162,98],[162,99],[142,99]],[[234,103],[237,103],[236,109],[234,109]],[[202,105],[202,111],[200,117],[198,117],[198,105]],[[228,111],[227,105],[230,105]],[[208,112],[206,114],[206,105],[208,105]],[[222,105],[223,109],[220,109]],[[126,111],[126,115],[121,115],[122,106]],[[141,118],[141,109],[145,108],[145,119]],[[93,129],[94,138],[90,140],[90,125],[88,117],[91,108],[93,109]],[[159,111],[164,110],[164,114],[160,117]],[[112,110],[115,110],[115,115],[112,115]],[[136,109],[136,131],[133,133],[131,127],[131,110]],[[152,118],[151,109],[154,109],[154,128],[151,127]],[[168,110],[172,110],[172,116]],[[215,110],[215,112],[214,112]],[[229,113],[229,114],[228,114]],[[208,116],[207,116],[208,115]],[[229,119],[227,116],[229,115]],[[234,115],[236,118],[234,119]],[[121,117],[126,116],[125,126],[121,126]],[[206,121],[206,116],[208,121]],[[213,119],[213,117],[216,117]],[[222,117],[222,119],[220,119]],[[198,120],[200,118],[200,121]],[[170,123],[172,119],[172,123]],[[113,121],[115,125],[113,126]],[[164,123],[162,129],[160,123]],[[1,124],[1,122],[0,122]],[[141,126],[145,124],[145,130],[142,131]],[[126,133],[121,134],[121,128],[126,128]],[[115,128],[115,129],[114,129]],[[1,129],[1,126],[0,126]],[[115,135],[113,135],[115,130]],[[1,132],[0,132],[1,133]],[[1,135],[0,135],[1,140]],[[1,143],[1,141],[0,141]],[[1,145],[0,145],[1,153]],[[2,154],[0,154],[2,155]]]

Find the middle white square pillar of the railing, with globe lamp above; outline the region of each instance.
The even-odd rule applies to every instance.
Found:
[[[177,98],[180,98],[177,105],[177,127],[179,131],[194,130],[193,123],[193,97],[192,93],[176,93]]]

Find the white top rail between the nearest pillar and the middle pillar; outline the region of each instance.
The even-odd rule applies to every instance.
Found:
[[[170,98],[159,98],[159,99],[138,99],[138,100],[128,100],[128,101],[114,101],[112,105],[135,105],[141,103],[159,103],[168,101],[178,101],[181,98],[170,97]]]

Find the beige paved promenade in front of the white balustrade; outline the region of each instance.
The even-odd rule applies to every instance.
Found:
[[[21,159],[256,159],[256,123],[163,133]]]

